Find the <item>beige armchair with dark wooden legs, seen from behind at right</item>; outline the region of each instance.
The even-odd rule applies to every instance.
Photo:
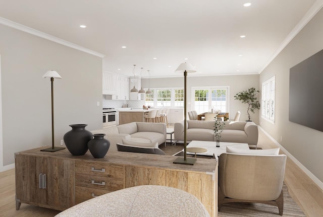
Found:
[[[219,211],[223,203],[257,202],[278,206],[279,214],[283,215],[286,158],[286,155],[220,155]]]

